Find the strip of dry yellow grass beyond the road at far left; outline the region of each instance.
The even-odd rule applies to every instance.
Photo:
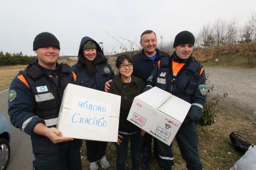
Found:
[[[26,65],[0,66],[0,89],[10,86],[11,80]]]

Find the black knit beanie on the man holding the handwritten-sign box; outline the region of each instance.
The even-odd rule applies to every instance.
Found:
[[[33,50],[37,50],[42,47],[56,47],[60,49],[58,39],[49,32],[42,32],[35,37]]]

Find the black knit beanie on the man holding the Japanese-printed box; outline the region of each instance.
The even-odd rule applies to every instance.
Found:
[[[194,35],[189,31],[181,31],[178,33],[174,39],[173,47],[177,47],[181,44],[195,44],[195,37]]]

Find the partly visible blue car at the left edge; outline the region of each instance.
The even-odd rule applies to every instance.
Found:
[[[11,130],[7,120],[0,110],[0,169],[7,169],[10,160],[10,134]]]

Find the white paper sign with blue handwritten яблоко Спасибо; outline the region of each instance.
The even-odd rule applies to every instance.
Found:
[[[86,98],[74,97],[72,101],[69,125],[85,129],[108,130],[110,105]]]

